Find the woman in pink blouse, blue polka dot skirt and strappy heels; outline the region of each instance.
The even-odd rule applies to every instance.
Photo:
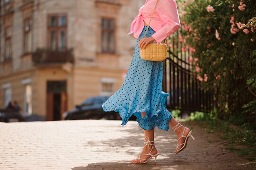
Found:
[[[155,8],[155,12],[147,30],[147,23]],[[142,153],[132,163],[146,163],[150,158],[159,155],[154,144],[154,127],[168,131],[169,126],[177,134],[177,149],[182,151],[192,131],[182,126],[166,109],[165,101],[168,93],[162,91],[163,61],[143,60],[140,49],[149,43],[160,43],[175,33],[180,27],[177,4],[175,0],[146,0],[140,8],[139,15],[132,21],[129,34],[137,38],[131,65],[127,71],[121,88],[102,104],[105,111],[119,112],[125,125],[133,115],[144,129],[145,142]],[[144,34],[146,33],[145,38]]]

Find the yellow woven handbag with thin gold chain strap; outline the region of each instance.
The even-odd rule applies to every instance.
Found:
[[[158,1],[157,1],[158,3]],[[155,9],[157,7],[157,4],[154,8],[153,14],[155,12]],[[153,14],[150,18],[150,21],[153,17]],[[145,35],[148,32],[150,23],[148,25],[147,31],[145,33]],[[144,38],[145,38],[144,35]],[[165,39],[165,43],[150,43],[146,46],[145,49],[141,49],[140,50],[140,54],[141,54],[141,59],[145,59],[145,60],[150,60],[150,61],[163,61],[167,58],[167,45],[166,45],[166,39]]]

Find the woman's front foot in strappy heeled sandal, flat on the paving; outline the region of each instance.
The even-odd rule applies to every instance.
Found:
[[[154,142],[150,141],[149,143],[145,144],[143,151],[141,152],[141,156],[138,156],[138,158],[132,160],[131,162],[132,163],[142,163],[142,162],[147,161],[151,157],[151,155],[144,155],[144,154],[151,154],[151,155],[157,154],[157,149],[155,147]],[[139,158],[141,158],[141,161]]]

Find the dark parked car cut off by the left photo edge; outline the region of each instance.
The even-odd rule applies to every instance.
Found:
[[[26,121],[25,118],[17,110],[0,109],[0,122]]]

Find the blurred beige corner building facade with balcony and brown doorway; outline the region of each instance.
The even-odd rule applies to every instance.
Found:
[[[145,0],[1,0],[0,108],[60,120],[85,99],[123,84]]]

